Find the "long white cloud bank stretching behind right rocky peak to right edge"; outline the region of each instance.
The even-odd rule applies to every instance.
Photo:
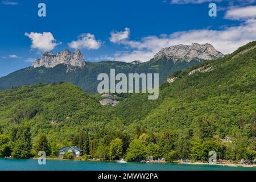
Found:
[[[147,36],[140,41],[126,40],[122,44],[130,47],[132,51],[116,53],[115,60],[148,61],[162,48],[192,43],[210,43],[218,51],[226,54],[253,40],[256,40],[256,20],[250,19],[240,26],[226,27],[224,30],[190,30],[171,35]]]

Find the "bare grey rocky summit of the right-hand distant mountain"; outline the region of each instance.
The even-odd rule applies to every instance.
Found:
[[[191,61],[193,59],[213,60],[225,55],[217,51],[211,44],[193,43],[191,46],[177,45],[162,49],[155,55],[155,59],[166,57],[167,59]]]

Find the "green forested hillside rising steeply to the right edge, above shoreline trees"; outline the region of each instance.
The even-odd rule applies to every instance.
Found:
[[[145,125],[164,122],[164,127],[189,126],[195,117],[209,113],[222,120],[225,117],[227,122],[234,122],[235,118],[238,121],[238,117],[254,113],[256,108],[256,53],[255,48],[250,49],[255,44],[248,44],[222,59],[198,64],[183,72],[177,71],[169,76],[177,78],[174,82],[160,85],[158,100],[151,101],[147,96],[134,94],[114,107],[113,112],[126,122],[144,120],[147,121]],[[250,50],[245,52],[246,49]],[[208,67],[213,70],[188,75],[193,70]]]

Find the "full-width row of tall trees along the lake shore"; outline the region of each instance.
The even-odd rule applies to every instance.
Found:
[[[225,142],[215,135],[213,118],[204,116],[197,118],[197,121],[193,128],[164,130],[161,133],[152,133],[137,125],[133,135],[123,132],[120,138],[114,138],[114,135],[93,138],[87,130],[82,130],[72,140],[61,142],[45,134],[32,142],[30,127],[20,126],[13,128],[9,135],[0,134],[0,156],[30,158],[38,157],[39,151],[45,151],[47,156],[55,158],[59,154],[59,148],[73,145],[82,150],[81,158],[84,160],[125,158],[127,161],[140,161],[164,158],[171,163],[188,158],[191,161],[207,162],[210,151],[217,153],[217,159],[231,159],[233,162],[256,158],[255,136],[249,138],[248,134],[235,129],[230,135],[232,142]],[[63,158],[74,157],[66,152]]]

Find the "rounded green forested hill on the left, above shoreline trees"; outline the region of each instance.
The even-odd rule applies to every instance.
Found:
[[[103,132],[112,122],[121,124],[96,98],[68,83],[22,86],[1,92],[0,98],[2,127],[29,125],[32,137],[44,133],[70,139],[81,128]]]

